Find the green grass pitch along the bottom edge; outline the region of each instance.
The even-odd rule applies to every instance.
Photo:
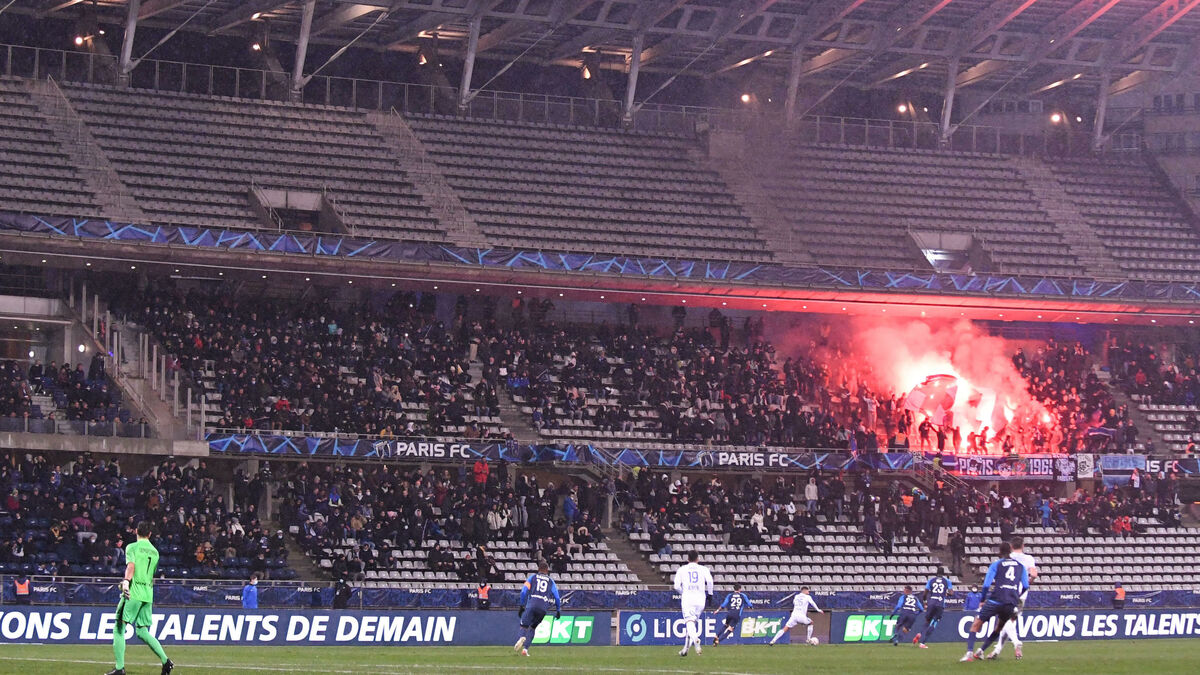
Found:
[[[172,647],[176,675],[312,673],[332,675],[404,673],[607,673],[745,675],[760,673],[1198,673],[1200,640],[1116,640],[1026,643],[1024,661],[1010,649],[1001,661],[958,663],[959,644],[800,645],[704,647],[680,658],[674,647],[541,647],[523,658],[509,647]],[[5,645],[0,673],[22,675],[98,675],[112,665],[103,646]],[[158,663],[131,641],[128,675],[157,675]]]

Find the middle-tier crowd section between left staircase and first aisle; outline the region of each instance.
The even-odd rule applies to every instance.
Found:
[[[112,305],[193,382],[211,362],[223,408],[212,426],[503,438],[467,420],[499,414],[494,380],[467,372],[481,327],[467,321],[464,301],[444,324],[433,300],[400,293],[377,306],[156,287],[114,292]]]

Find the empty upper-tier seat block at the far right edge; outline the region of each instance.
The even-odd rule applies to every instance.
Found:
[[[1117,264],[1136,279],[1195,281],[1200,233],[1142,159],[1050,165]]]

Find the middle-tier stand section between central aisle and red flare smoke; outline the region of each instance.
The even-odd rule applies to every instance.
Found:
[[[731,346],[728,331],[542,327],[527,359],[509,364],[509,390],[544,438],[848,446],[850,432],[812,405],[817,369],[776,364],[760,339]]]

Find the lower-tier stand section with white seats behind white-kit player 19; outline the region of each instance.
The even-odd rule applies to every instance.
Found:
[[[750,591],[794,590],[802,580],[822,591],[890,592],[920,586],[936,572],[920,542],[924,530],[907,526],[924,512],[898,491],[881,502],[869,480],[852,492],[830,476],[803,486],[782,477],[766,486],[734,476],[724,480],[728,489],[722,477],[690,484],[643,471],[631,486],[624,527],[664,578],[691,550],[722,591],[734,580]]]

